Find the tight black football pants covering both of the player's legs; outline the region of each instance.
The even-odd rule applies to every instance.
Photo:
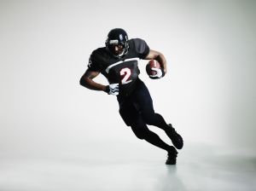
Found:
[[[157,126],[162,130],[166,130],[169,126],[159,113],[154,113],[152,98],[143,81],[138,79],[137,88],[131,96],[118,96],[118,101],[122,119],[126,125],[131,126],[137,138],[144,139],[166,151],[170,150],[171,146],[163,142],[153,131],[148,130],[147,124]]]

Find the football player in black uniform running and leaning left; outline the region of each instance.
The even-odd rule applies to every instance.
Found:
[[[139,139],[143,139],[167,152],[166,165],[175,165],[177,149],[183,148],[183,138],[177,134],[172,124],[166,124],[165,119],[154,113],[152,98],[148,88],[138,78],[138,61],[156,60],[161,68],[153,68],[155,75],[150,78],[162,78],[166,74],[166,58],[160,52],[149,49],[148,44],[140,38],[128,39],[127,33],[121,28],[108,32],[105,47],[94,50],[90,55],[87,70],[80,78],[80,84],[90,90],[101,90],[108,95],[117,96],[119,114],[127,126]],[[94,78],[102,73],[109,84],[98,84]],[[173,146],[160,139],[160,136],[148,130],[154,125],[165,130]]]

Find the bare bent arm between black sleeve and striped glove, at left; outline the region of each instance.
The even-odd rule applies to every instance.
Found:
[[[80,78],[80,85],[82,85],[85,88],[88,88],[90,90],[99,90],[99,91],[107,92],[106,85],[98,84],[93,80],[93,78],[96,78],[96,76],[99,74],[100,74],[100,72],[91,71],[91,70],[87,69],[84,72],[84,75]]]

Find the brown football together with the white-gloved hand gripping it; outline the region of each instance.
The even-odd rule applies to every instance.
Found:
[[[149,78],[152,79],[162,78],[165,75],[164,70],[160,67],[160,63],[155,60],[148,61],[146,72],[148,73]]]

